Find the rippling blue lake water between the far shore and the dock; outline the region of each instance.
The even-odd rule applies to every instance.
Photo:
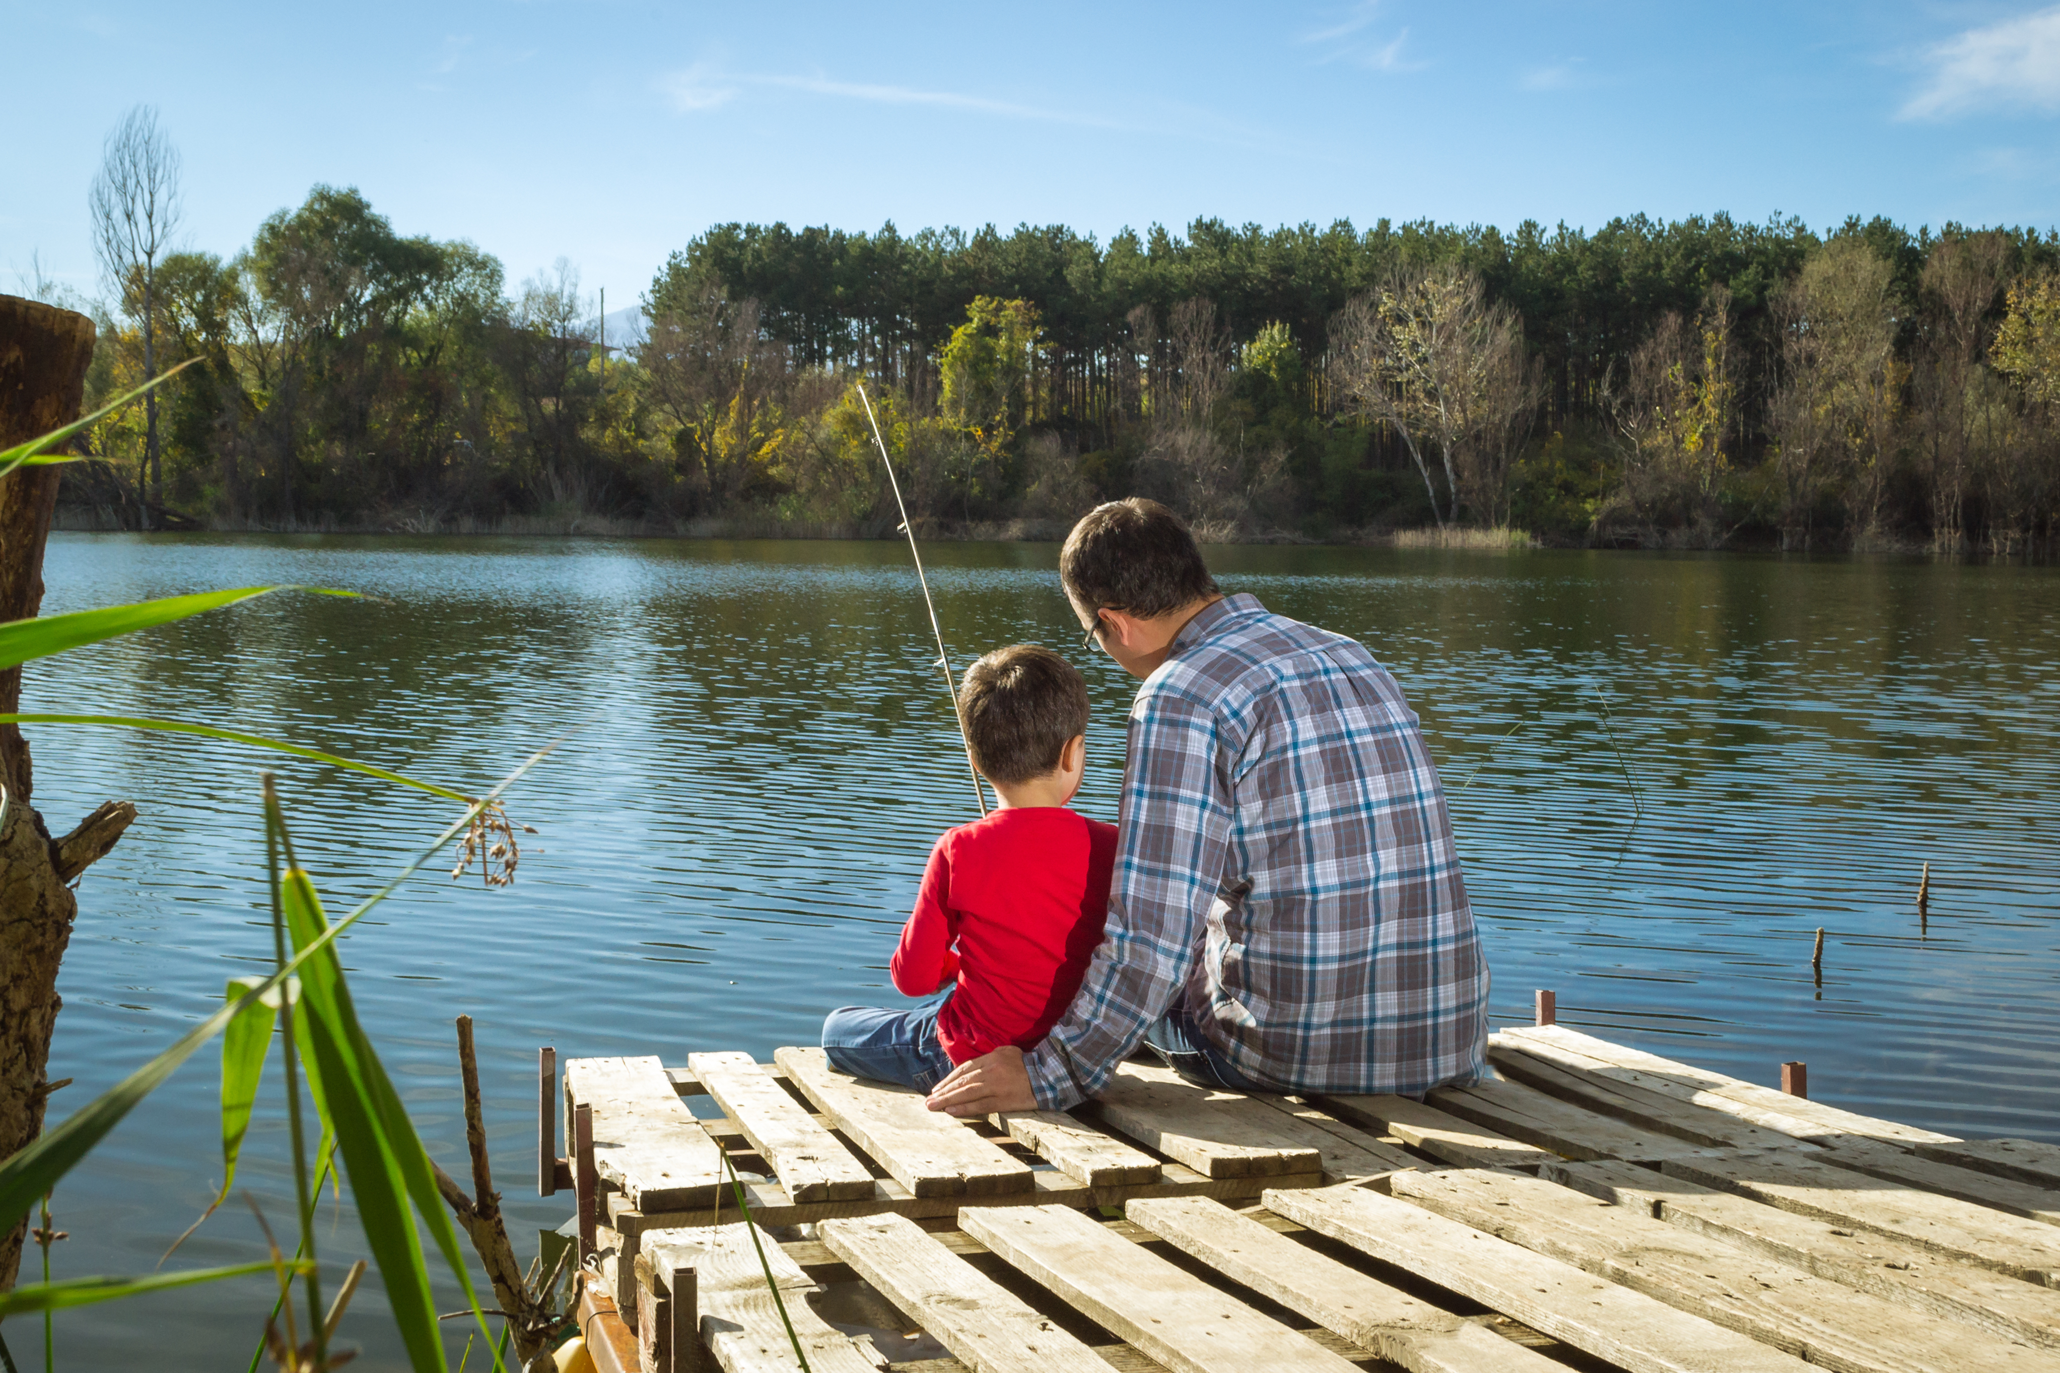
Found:
[[[1761,1083],[1802,1058],[1827,1101],[2060,1140],[2054,570],[1209,558],[1230,589],[1362,638],[1403,681],[1452,795],[1500,1023],[1526,1021],[1547,986],[1564,1023],[1660,1054]],[[1051,545],[935,545],[925,562],[960,663],[1016,640],[1082,657]],[[968,817],[929,626],[892,543],[60,535],[45,578],[47,611],[255,583],[377,599],[274,597],[33,665],[27,710],[235,723],[468,788],[564,737],[511,803],[542,832],[513,889],[418,877],[344,949],[360,1013],[453,1171],[451,1017],[478,1019],[519,1225],[566,1214],[562,1198],[525,1198],[536,1046],[680,1062],[812,1042],[824,1009],[892,996],[886,957],[923,858]],[[1112,819],[1131,681],[1084,667],[1096,723],[1082,809]],[[142,809],[80,889],[52,1064],[78,1079],[52,1103],[62,1116],[268,961],[268,760],[31,733],[54,825],[107,797]],[[274,766],[332,906],[451,817],[371,778]],[[202,1054],[60,1188],[74,1235],[60,1274],[148,1268],[200,1214],[220,1175],[214,1072]],[[282,1136],[262,1110],[239,1167],[274,1223],[290,1214]],[[356,1245],[330,1204],[323,1258],[340,1266]],[[225,1208],[175,1262],[258,1256],[247,1210]],[[60,1350],[68,1367],[138,1348],[227,1367],[266,1305],[251,1282],[95,1307],[60,1317]],[[404,1367],[381,1317],[360,1297],[358,1367]],[[27,1324],[8,1334],[33,1357]]]

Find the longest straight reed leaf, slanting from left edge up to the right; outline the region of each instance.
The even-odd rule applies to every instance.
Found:
[[[325,932],[315,937],[305,949],[295,953],[284,967],[268,976],[258,984],[255,990],[245,992],[239,1000],[222,1007],[202,1023],[194,1025],[190,1031],[179,1035],[167,1050],[157,1054],[150,1062],[142,1064],[126,1079],[103,1091],[93,1101],[72,1112],[52,1130],[45,1130],[35,1140],[0,1161],[0,1229],[14,1225],[21,1217],[29,1214],[35,1200],[58,1186],[72,1167],[78,1165],[87,1153],[93,1151],[101,1138],[113,1130],[124,1116],[128,1116],[138,1101],[148,1097],[173,1070],[194,1056],[194,1052],[212,1040],[220,1029],[235,1019],[235,1015],[249,1005],[255,1005],[264,992],[280,986],[290,974],[297,974],[309,959],[317,957],[328,949],[338,935],[348,930],[360,918],[365,918],[379,902],[393,893],[400,883],[412,877],[424,862],[443,854],[443,846],[472,823],[472,819],[492,805],[501,793],[515,784],[529,768],[544,762],[550,751],[558,747],[556,743],[546,745],[531,753],[519,768],[507,774],[490,793],[480,801],[466,807],[466,813],[443,828],[426,848],[418,850],[402,869],[387,879],[383,887],[373,891],[369,897],[358,902],[358,906],[332,924]]]

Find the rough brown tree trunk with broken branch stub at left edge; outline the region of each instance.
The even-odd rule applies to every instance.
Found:
[[[78,418],[93,358],[93,321],[19,296],[0,296],[0,447]],[[0,622],[29,620],[43,603],[43,541],[58,508],[58,467],[16,467],[0,478]],[[21,667],[0,671],[0,712],[21,708]],[[109,801],[72,834],[52,840],[29,809],[29,741],[0,725],[0,1159],[43,1132],[49,1033],[58,1023],[58,963],[78,902],[66,883],[87,871],[136,807]],[[14,1287],[27,1221],[0,1235],[0,1291]]]

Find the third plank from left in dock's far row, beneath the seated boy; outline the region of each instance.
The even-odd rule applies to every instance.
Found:
[[[830,1066],[820,1048],[775,1050],[787,1081],[869,1153],[913,1196],[1028,1192],[1030,1165],[1011,1159],[956,1118],[923,1105],[923,1093],[867,1083]]]

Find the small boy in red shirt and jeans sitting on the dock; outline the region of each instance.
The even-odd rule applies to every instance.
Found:
[[[838,1007],[822,1023],[832,1066],[923,1093],[968,1058],[1036,1046],[1065,1015],[1102,943],[1117,858],[1117,828],[1067,809],[1088,766],[1088,683],[1071,663],[995,648],[966,669],[958,708],[1001,805],[937,840],[894,951],[894,988],[931,1000]]]

